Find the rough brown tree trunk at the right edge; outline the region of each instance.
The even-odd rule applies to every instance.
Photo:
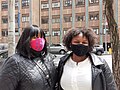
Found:
[[[105,0],[105,13],[112,43],[112,69],[118,90],[120,90],[120,41],[118,25],[114,19],[113,0]]]

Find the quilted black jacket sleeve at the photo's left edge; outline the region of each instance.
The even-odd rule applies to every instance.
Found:
[[[18,72],[15,58],[8,58],[0,68],[0,90],[15,90],[19,78]]]

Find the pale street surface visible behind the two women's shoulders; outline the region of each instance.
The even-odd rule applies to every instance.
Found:
[[[64,55],[56,54],[56,56],[57,56],[57,57],[54,59],[54,62],[55,62],[55,65],[57,66],[60,58],[61,58],[62,56],[64,56]],[[101,55],[101,56],[99,56],[99,57],[101,57],[101,58],[103,58],[103,59],[106,60],[106,62],[108,63],[108,65],[109,65],[109,67],[110,67],[110,69],[111,69],[111,71],[112,71],[112,56],[109,55],[109,54],[107,54],[107,55]]]

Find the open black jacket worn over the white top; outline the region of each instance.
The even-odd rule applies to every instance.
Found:
[[[71,54],[63,56],[59,62],[57,90],[63,90],[60,86],[60,78],[63,73],[64,65]],[[117,90],[113,75],[106,61],[94,54],[89,54],[89,58],[92,64],[92,90]]]

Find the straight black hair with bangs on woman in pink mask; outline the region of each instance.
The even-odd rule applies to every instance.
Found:
[[[37,37],[38,34],[40,34],[40,36],[45,39],[45,46],[44,46],[43,50],[41,51],[44,54],[41,55],[41,57],[44,57],[45,55],[47,55],[47,41],[45,38],[45,33],[37,25],[28,26],[24,29],[24,31],[17,43],[16,53],[18,53],[26,58],[31,58],[30,40],[34,36]]]

